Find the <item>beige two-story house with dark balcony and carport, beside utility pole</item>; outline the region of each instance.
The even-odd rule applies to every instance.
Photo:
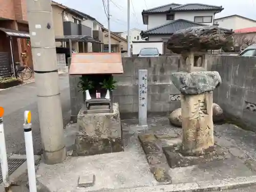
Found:
[[[54,1],[52,1],[52,12],[55,37],[86,36],[86,39],[72,40],[72,48],[77,52],[102,51],[103,46],[99,42],[103,41],[101,30],[103,25],[95,18]],[[58,42],[56,39],[56,47],[60,46],[69,47],[69,40]]]

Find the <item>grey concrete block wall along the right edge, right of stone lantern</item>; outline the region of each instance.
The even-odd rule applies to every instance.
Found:
[[[218,71],[222,84],[214,101],[224,112],[256,132],[256,57],[211,56],[211,71]]]

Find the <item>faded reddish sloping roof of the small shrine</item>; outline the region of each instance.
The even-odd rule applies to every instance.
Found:
[[[123,73],[121,53],[72,54],[70,75],[121,73]]]

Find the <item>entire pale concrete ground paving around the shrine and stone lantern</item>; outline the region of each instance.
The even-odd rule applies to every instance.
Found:
[[[138,134],[167,134],[177,140],[182,130],[169,125],[167,117],[148,118],[147,129],[137,124],[137,120],[122,121],[124,152],[68,157],[65,162],[57,165],[41,163],[37,170],[38,181],[50,191],[58,192],[218,191],[256,183],[255,170],[246,161],[256,157],[256,135],[227,124],[216,125],[215,138],[217,145],[231,149],[230,158],[196,166],[169,168],[172,184],[160,185],[150,173]],[[77,188],[78,177],[88,174],[95,175],[94,186]]]

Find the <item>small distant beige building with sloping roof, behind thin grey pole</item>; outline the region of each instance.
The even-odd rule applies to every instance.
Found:
[[[103,28],[103,51],[109,51],[109,30]],[[127,51],[127,40],[115,33],[111,32],[111,51],[123,52]]]

